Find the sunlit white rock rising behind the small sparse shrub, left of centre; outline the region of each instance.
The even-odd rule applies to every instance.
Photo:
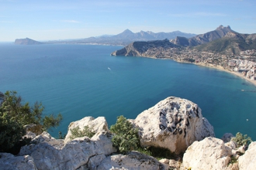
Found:
[[[79,121],[73,121],[69,124],[64,143],[67,143],[67,141],[71,141],[71,129],[79,127],[81,130],[83,130],[85,126],[92,128],[95,132],[109,131],[108,123],[106,122],[105,117],[84,117]]]

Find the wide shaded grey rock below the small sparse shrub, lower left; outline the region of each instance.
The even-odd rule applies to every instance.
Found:
[[[34,144],[22,147],[19,155],[30,155],[37,169],[92,169],[116,152],[111,138],[109,132],[99,131],[91,139],[75,138],[64,144],[43,132]]]

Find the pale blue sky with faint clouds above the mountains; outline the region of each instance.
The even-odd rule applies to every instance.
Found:
[[[0,42],[132,32],[256,33],[255,0],[0,0]]]

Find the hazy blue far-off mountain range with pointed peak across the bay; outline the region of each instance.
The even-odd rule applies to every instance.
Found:
[[[128,45],[134,41],[150,41],[150,40],[162,40],[162,39],[175,39],[176,36],[184,36],[190,38],[195,36],[195,34],[185,33],[185,32],[144,32],[140,31],[137,33],[131,32],[129,29],[115,36],[98,36],[89,37],[87,39],[77,39],[74,41],[61,41],[62,43],[96,43],[96,44],[108,44],[108,45]],[[60,42],[60,41],[58,41]]]

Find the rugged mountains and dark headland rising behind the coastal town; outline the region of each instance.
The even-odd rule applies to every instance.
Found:
[[[131,34],[129,30],[123,32]],[[133,34],[134,36],[134,34]],[[240,55],[241,51],[256,49],[256,34],[240,34],[230,29],[230,26],[219,26],[211,32],[206,32],[192,38],[177,36],[168,41],[132,42],[123,49],[112,53],[112,56],[168,56],[172,52],[196,49],[199,52]],[[172,52],[171,52],[172,51]],[[165,53],[165,54],[164,54]],[[168,53],[168,54],[167,54]]]

